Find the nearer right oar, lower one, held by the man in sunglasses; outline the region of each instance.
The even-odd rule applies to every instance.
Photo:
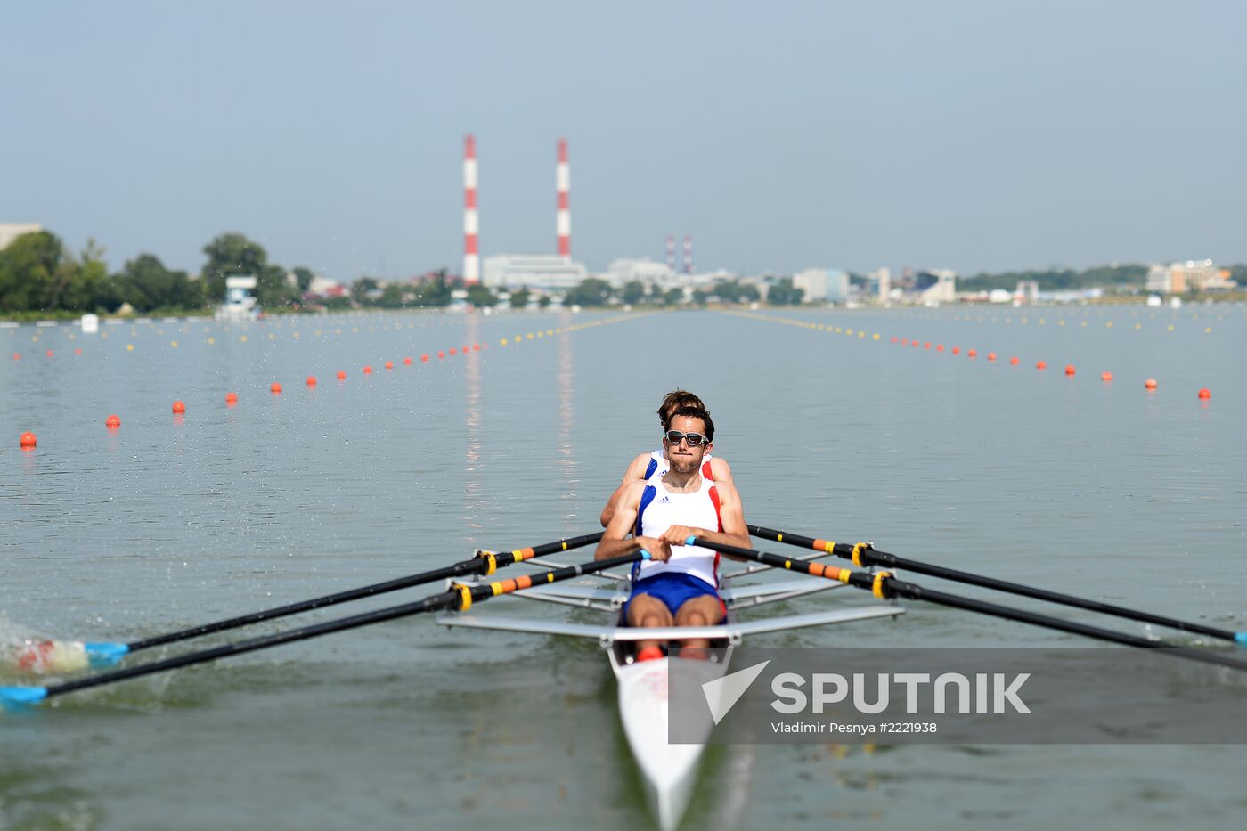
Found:
[[[1019,623],[1042,626],[1045,629],[1055,629],[1057,631],[1067,631],[1074,635],[1094,638],[1095,640],[1106,640],[1114,644],[1122,644],[1125,646],[1140,646],[1145,649],[1165,648],[1162,651],[1166,655],[1176,655],[1181,658],[1188,658],[1196,661],[1203,661],[1205,664],[1217,664],[1220,666],[1230,666],[1238,670],[1247,670],[1247,660],[1243,660],[1241,658],[1232,658],[1206,649],[1192,649],[1190,646],[1181,646],[1178,644],[1173,644],[1165,640],[1148,640],[1146,638],[1139,638],[1137,635],[1127,635],[1125,633],[1114,631],[1111,629],[1089,626],[1086,624],[1074,623],[1072,620],[1061,620],[1060,618],[1051,618],[1049,615],[1041,615],[1034,611],[1026,611],[1025,609],[1014,609],[1011,606],[1001,606],[994,603],[975,600],[973,598],[963,598],[955,594],[945,594],[944,591],[935,591],[933,589],[925,589],[913,583],[905,583],[904,580],[898,580],[888,571],[875,571],[874,574],[870,574],[868,571],[853,571],[850,569],[840,569],[832,565],[824,565],[822,563],[809,563],[806,560],[781,556],[778,554],[768,554],[767,552],[754,552],[748,548],[737,548],[734,545],[725,545],[722,543],[711,543],[710,540],[703,540],[696,537],[690,537],[687,544],[705,545],[706,548],[712,548],[716,552],[721,552],[723,554],[731,554],[732,556],[739,556],[742,559],[754,560],[757,563],[772,565],[778,569],[804,571],[806,574],[811,574],[813,576],[827,578],[828,580],[839,580],[840,583],[844,583],[847,585],[872,591],[874,596],[879,598],[880,600],[888,600],[892,598],[925,600],[928,603],[936,603],[943,606],[951,606],[953,609],[965,609],[966,611],[978,611],[980,614],[991,615],[994,618],[1004,618],[1005,620],[1016,620]]]

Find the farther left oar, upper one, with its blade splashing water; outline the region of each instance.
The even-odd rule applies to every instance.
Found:
[[[277,618],[284,618],[301,611],[311,611],[312,609],[320,609],[338,603],[347,603],[348,600],[369,598],[375,594],[385,594],[387,591],[408,589],[425,583],[436,583],[438,580],[445,580],[449,578],[466,576],[470,574],[481,574],[488,576],[493,574],[495,569],[500,569],[514,563],[522,563],[524,560],[531,560],[535,556],[554,554],[555,552],[570,552],[574,548],[581,548],[584,545],[596,543],[601,538],[602,532],[597,532],[596,534],[585,534],[582,537],[560,539],[554,543],[542,543],[541,545],[520,548],[514,552],[501,554],[495,554],[494,552],[476,552],[476,556],[470,560],[463,560],[431,571],[410,574],[408,576],[395,578],[383,583],[374,583],[358,589],[348,589],[337,594],[327,594],[320,598],[277,606],[276,609],[264,609],[263,611],[253,611],[237,618],[228,618],[226,620],[217,620],[216,623],[191,626],[190,629],[180,629],[177,631],[156,635],[153,638],[145,638],[143,640],[136,640],[128,644],[82,643],[74,640],[30,641],[17,650],[14,663],[19,669],[45,674],[69,673],[86,669],[87,665],[96,669],[112,666],[123,656],[143,649],[151,649],[152,646],[173,644],[181,640],[200,638],[202,635],[211,635],[212,633],[238,629],[239,626],[249,626],[251,624],[264,620],[274,620]]]

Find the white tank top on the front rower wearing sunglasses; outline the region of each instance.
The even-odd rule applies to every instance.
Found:
[[[662,484],[662,477],[653,477],[645,483],[641,493],[641,505],[636,514],[636,534],[638,537],[661,537],[672,525],[688,525],[721,532],[723,524],[718,515],[718,490],[706,477],[701,478],[701,488],[693,493],[671,493]],[[671,559],[666,563],[642,560],[633,568],[632,579],[646,578],[676,571],[700,578],[718,588],[718,552],[701,545],[672,545]]]

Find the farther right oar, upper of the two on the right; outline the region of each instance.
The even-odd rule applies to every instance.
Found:
[[[1228,629],[1207,626],[1205,624],[1193,623],[1190,620],[1178,620],[1176,618],[1153,615],[1150,611],[1141,611],[1139,609],[1127,609],[1125,606],[1116,606],[1112,605],[1111,603],[1101,603],[1099,600],[1076,598],[1074,595],[1061,594],[1059,591],[1049,591],[1047,589],[1036,589],[1035,586],[1023,585],[1020,583],[1009,583],[1008,580],[998,580],[995,578],[983,576],[981,574],[958,571],[956,569],[948,569],[944,568],[943,565],[934,565],[932,563],[909,560],[903,556],[897,556],[895,554],[879,552],[874,549],[870,545],[870,543],[857,543],[855,545],[849,543],[832,543],[826,539],[813,539],[811,537],[802,537],[801,534],[789,534],[788,532],[778,532],[772,528],[763,528],[761,525],[749,525],[748,528],[749,533],[754,537],[771,539],[777,543],[787,543],[789,545],[796,545],[798,548],[813,548],[817,552],[826,552],[827,554],[834,554],[835,556],[842,556],[847,560],[852,560],[853,564],[857,565],[858,568],[863,565],[882,565],[885,568],[905,569],[908,571],[927,574],[929,576],[940,578],[943,580],[955,580],[956,583],[978,585],[983,586],[984,589],[995,589],[996,591],[1008,591],[1009,594],[1019,594],[1026,598],[1035,598],[1036,600],[1047,600],[1049,603],[1059,603],[1066,606],[1076,606],[1079,609],[1087,609],[1090,611],[1100,611],[1106,615],[1115,615],[1117,618],[1127,618],[1130,620],[1139,620],[1142,623],[1156,624],[1157,626],[1168,626],[1170,629],[1178,629],[1181,631],[1190,631],[1198,635],[1207,635],[1210,638],[1217,638],[1220,640],[1228,640],[1231,643],[1238,644],[1240,646],[1247,646],[1247,631],[1230,631]]]

